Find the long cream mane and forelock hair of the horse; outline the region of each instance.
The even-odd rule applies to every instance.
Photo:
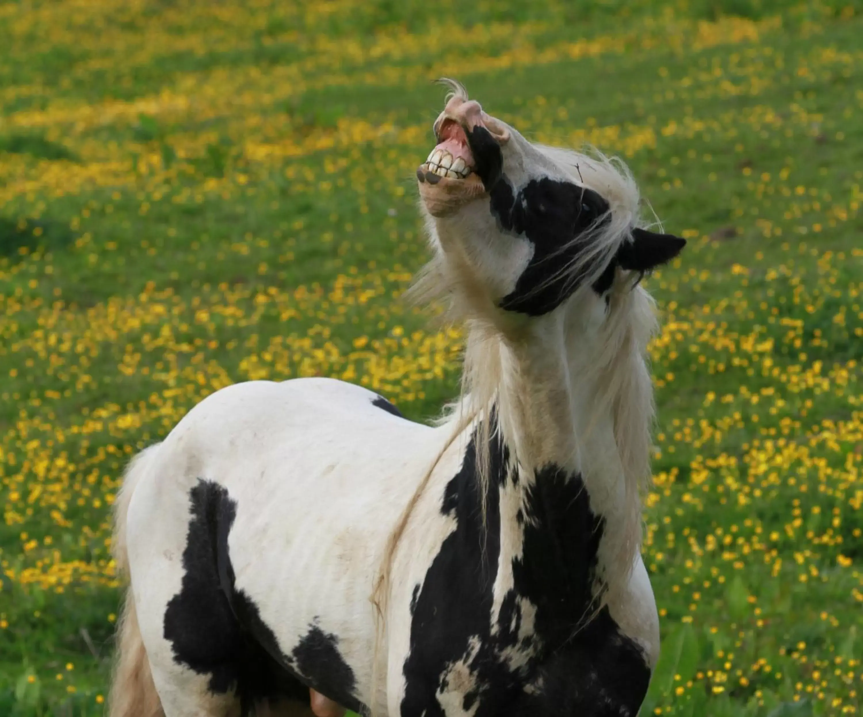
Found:
[[[462,85],[448,83],[452,95],[467,97]],[[602,195],[609,204],[603,221],[598,221],[588,233],[573,241],[583,246],[576,258],[564,264],[550,280],[567,280],[590,286],[608,266],[622,242],[630,238],[633,228],[644,226],[639,220],[639,192],[626,165],[595,150],[589,154],[571,149],[534,145],[572,179]],[[428,231],[434,236],[429,218]],[[561,248],[567,253],[569,245]],[[620,455],[625,485],[625,535],[615,556],[613,569],[598,576],[608,585],[628,579],[641,544],[642,495],[649,485],[651,429],[654,413],[651,374],[647,365],[647,343],[656,330],[654,304],[638,277],[617,270],[609,298],[608,318],[603,324],[602,342],[597,347],[593,374],[585,381],[597,387],[595,412],[610,410],[614,439]],[[459,438],[465,440],[476,431],[476,463],[478,492],[482,496],[482,520],[485,522],[486,496],[491,476],[489,448],[492,431],[507,431],[514,424],[514,413],[520,400],[509,399],[503,383],[510,358],[511,341],[507,328],[496,323],[497,311],[488,311],[488,297],[478,286],[465,285],[466,272],[459,271],[439,252],[423,267],[411,287],[408,298],[417,303],[443,299],[443,320],[463,324],[467,336],[463,352],[461,391],[447,406],[438,426],[449,429],[449,438],[419,481],[413,497],[395,524],[384,550],[381,569],[375,581],[372,602],[375,605],[377,636],[373,664],[373,686],[376,685],[380,646],[385,634],[384,620],[390,591],[394,554],[398,548],[413,508],[431,480],[438,462]],[[501,388],[504,390],[501,391]],[[492,419],[496,412],[498,420]],[[583,437],[579,437],[582,440]],[[597,605],[597,610],[601,604]],[[586,616],[589,620],[592,615]],[[373,689],[376,689],[373,687]],[[376,697],[376,695],[375,695]],[[372,707],[373,714],[375,707]]]

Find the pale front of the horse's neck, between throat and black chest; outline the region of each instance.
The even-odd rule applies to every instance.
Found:
[[[542,482],[551,481],[550,475],[555,481],[561,475],[579,481],[589,512],[605,526],[598,568],[607,583],[618,584],[617,576],[628,574],[638,549],[640,513],[637,490],[625,479],[599,357],[589,343],[568,336],[560,318],[549,318],[527,341],[486,338],[482,345],[492,354],[485,356],[485,365],[493,367],[489,373],[497,380],[494,419],[518,470],[514,489],[544,492]],[[523,502],[516,496],[510,500],[513,506]],[[514,515],[510,512],[509,519]],[[500,527],[503,549],[511,527],[504,506]]]

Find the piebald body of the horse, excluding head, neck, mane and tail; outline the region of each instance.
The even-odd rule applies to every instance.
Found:
[[[579,667],[599,680],[591,656],[615,642],[606,668],[631,658],[635,691],[646,687],[656,627],[629,618],[652,608],[643,565],[579,638],[602,513],[579,475],[527,475],[494,439],[483,527],[472,428],[438,461],[400,541],[387,615],[400,689],[388,713],[519,714],[520,697],[533,714],[544,680],[564,679],[545,672],[567,643],[555,668],[567,682]],[[254,381],[196,406],[150,454],[129,506],[138,619],[168,714],[190,714],[208,693],[260,702],[304,686],[369,705],[376,570],[416,488],[408,477],[447,442],[444,428],[342,381]]]

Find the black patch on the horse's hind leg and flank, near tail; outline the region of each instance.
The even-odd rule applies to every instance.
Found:
[[[163,624],[175,660],[199,675],[210,676],[211,692],[236,692],[243,715],[254,714],[255,702],[268,699],[307,704],[309,687],[349,708],[362,709],[350,694],[354,689],[350,667],[341,656],[336,659],[332,654],[337,654],[333,636],[324,636],[332,638],[327,670],[323,674],[303,670],[296,651],[290,656],[281,652],[255,601],[235,588],[228,535],[236,502],[227,490],[212,481],[198,480],[189,492],[189,502],[192,519],[183,551],[185,572],[180,592],[167,604]],[[312,626],[310,634],[314,630]],[[306,635],[298,650],[303,645],[320,645],[318,636]],[[299,654],[307,662],[307,651]],[[334,675],[343,681],[341,689],[331,682]]]

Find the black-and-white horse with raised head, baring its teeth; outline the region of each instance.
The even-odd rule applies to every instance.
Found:
[[[111,717],[635,715],[654,412],[640,280],[685,241],[625,164],[450,91],[417,170],[414,299],[465,328],[433,425],[327,378],[249,381],[130,463]],[[655,217],[654,217],[655,218]]]

